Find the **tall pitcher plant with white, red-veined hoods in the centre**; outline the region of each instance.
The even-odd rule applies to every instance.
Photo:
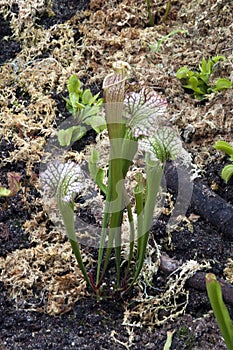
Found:
[[[165,163],[167,159],[175,159],[182,150],[176,132],[171,127],[161,125],[166,100],[148,88],[128,92],[126,81],[129,74],[129,65],[118,62],[114,65],[114,72],[107,75],[103,82],[110,147],[107,171],[99,166],[100,155],[96,149],[89,160],[90,174],[105,196],[95,276],[86,270],[74,225],[74,198],[85,187],[85,176],[77,164],[63,164],[60,161],[49,163],[47,170],[40,174],[42,188],[51,192],[56,199],[84,278],[98,297],[103,293],[103,281],[113,254],[115,291],[126,291],[137,280],[144,263]],[[132,191],[128,193],[125,180],[138,150],[145,155],[145,178],[139,171],[132,194]],[[133,213],[136,213],[136,220]],[[122,226],[125,217],[129,227],[129,253],[122,267]]]

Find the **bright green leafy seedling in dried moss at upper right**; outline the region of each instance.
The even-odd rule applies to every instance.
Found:
[[[203,58],[198,71],[181,67],[176,72],[176,77],[181,81],[183,88],[190,91],[195,98],[204,99],[208,94],[232,87],[231,81],[226,78],[219,78],[214,85],[210,83],[215,64],[224,59],[223,56],[215,56],[208,60]]]

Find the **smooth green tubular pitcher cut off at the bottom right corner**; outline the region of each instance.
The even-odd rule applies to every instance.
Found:
[[[221,284],[212,273],[206,275],[206,289],[211,307],[228,350],[233,350],[233,324],[222,298]]]

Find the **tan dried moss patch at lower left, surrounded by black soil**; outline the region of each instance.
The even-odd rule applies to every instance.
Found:
[[[89,258],[83,260],[88,263]],[[0,258],[0,268],[10,297],[31,310],[62,314],[86,295],[86,282],[69,242],[15,250]]]

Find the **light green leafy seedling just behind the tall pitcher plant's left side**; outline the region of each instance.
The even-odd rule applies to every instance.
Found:
[[[69,98],[65,98],[66,108],[72,114],[77,125],[58,131],[61,146],[70,146],[80,140],[87,132],[88,126],[97,133],[104,130],[105,120],[101,114],[103,99],[99,94],[92,95],[90,89],[82,89],[81,81],[75,76],[68,80]]]

